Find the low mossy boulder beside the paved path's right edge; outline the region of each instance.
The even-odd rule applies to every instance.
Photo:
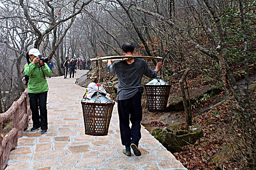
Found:
[[[199,125],[189,127],[189,131],[177,130],[171,127],[157,128],[152,135],[171,153],[182,151],[181,147],[194,144],[198,138],[203,135],[202,128]]]

